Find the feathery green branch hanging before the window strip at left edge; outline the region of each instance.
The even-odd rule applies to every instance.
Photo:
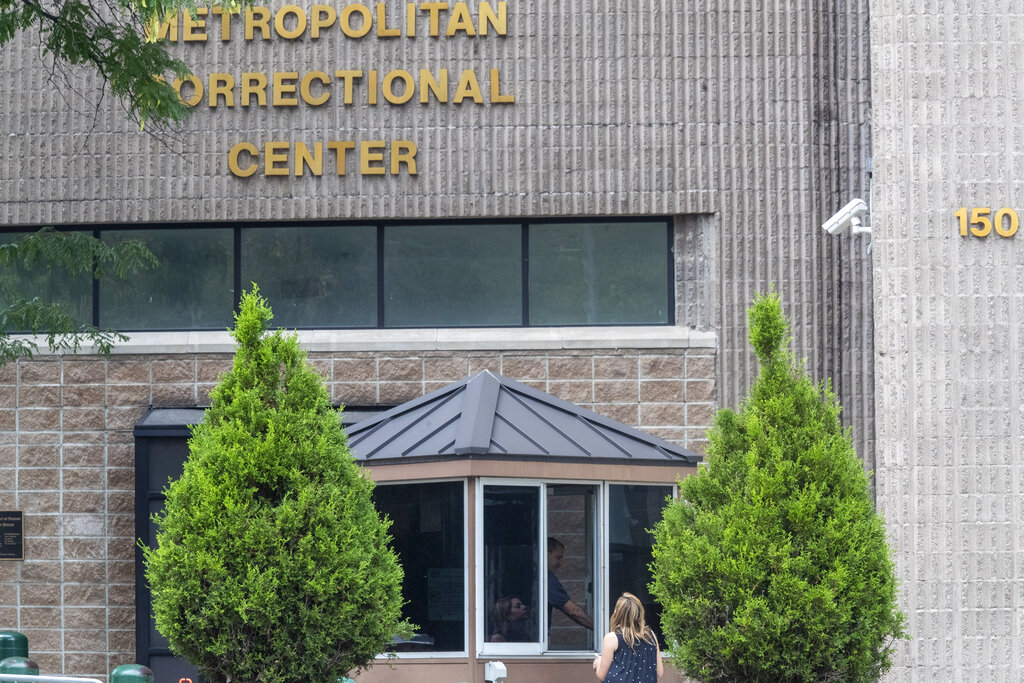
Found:
[[[78,288],[91,293],[93,278],[124,278],[157,265],[157,257],[141,242],[110,247],[87,232],[60,232],[51,227],[0,245],[0,366],[31,358],[39,349],[31,338],[12,337],[14,331],[43,335],[51,351],[77,352],[83,344],[92,344],[103,355],[110,354],[116,342],[128,339],[76,321],[67,302],[27,293],[30,286],[38,286],[40,276],[48,280],[67,273],[78,279]]]

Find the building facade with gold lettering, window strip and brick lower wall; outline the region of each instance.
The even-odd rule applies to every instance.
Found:
[[[135,429],[207,404],[254,280],[338,403],[490,370],[694,451],[774,286],[873,469],[879,265],[819,227],[868,194],[866,0],[278,4],[163,31],[195,73],[174,135],[49,78],[33,36],[2,57],[2,229],[164,262],[65,291],[130,331],[110,359],[0,370],[0,508],[26,525],[0,624],[47,672],[136,658]]]

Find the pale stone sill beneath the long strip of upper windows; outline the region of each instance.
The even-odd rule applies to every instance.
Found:
[[[114,354],[231,353],[226,331],[135,332],[114,347]],[[600,348],[708,348],[718,345],[714,332],[672,326],[585,328],[438,328],[421,330],[300,330],[302,347],[336,351],[488,351]],[[20,335],[18,335],[20,337]],[[51,355],[40,343],[38,355]],[[83,346],[80,353],[94,353]]]

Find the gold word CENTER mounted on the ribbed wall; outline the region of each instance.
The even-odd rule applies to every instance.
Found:
[[[324,175],[325,150],[329,174],[347,174],[349,152],[358,159],[359,175],[387,175],[389,171],[399,175],[402,170],[417,174],[418,148],[412,140],[329,140],[314,142],[312,148],[304,142],[270,141],[263,143],[262,160],[255,144],[239,142],[227,153],[227,167],[240,178],[254,175],[260,168],[263,175],[302,176],[306,170],[310,175]]]

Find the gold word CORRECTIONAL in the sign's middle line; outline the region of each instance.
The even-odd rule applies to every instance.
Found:
[[[419,102],[427,104],[431,100],[446,104],[461,104],[470,100],[477,104],[485,101],[492,104],[511,104],[515,95],[502,92],[501,75],[497,69],[489,70],[484,81],[486,90],[480,87],[480,79],[475,69],[463,70],[449,77],[447,69],[430,72],[421,69],[412,73],[396,69],[383,74],[376,69],[339,69],[334,72],[334,80],[323,71],[244,73],[238,79],[231,74],[210,74],[204,84],[197,76],[175,79],[174,90],[181,101],[189,106],[200,104],[204,98],[210,108],[217,106],[298,106],[302,101],[309,106],[321,106],[332,99],[332,86],[337,85],[340,98],[345,104],[404,104],[419,94]],[[455,84],[455,92],[452,87]],[[484,96],[486,92],[486,96]],[[269,97],[267,96],[269,93]],[[236,104],[237,102],[237,104]]]

